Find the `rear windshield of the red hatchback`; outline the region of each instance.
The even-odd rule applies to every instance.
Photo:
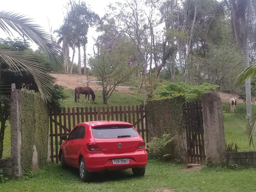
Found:
[[[94,138],[110,139],[137,137],[138,133],[134,127],[127,126],[112,126],[112,127],[95,127],[92,129]]]

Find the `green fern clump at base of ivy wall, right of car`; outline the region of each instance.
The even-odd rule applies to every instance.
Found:
[[[164,134],[162,137],[154,137],[147,143],[147,154],[152,159],[170,159],[170,150],[172,148],[174,137],[170,134]]]

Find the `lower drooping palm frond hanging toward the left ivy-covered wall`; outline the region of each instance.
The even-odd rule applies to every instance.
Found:
[[[41,98],[50,101],[52,96],[52,78],[44,66],[37,62],[37,58],[27,52],[0,49],[0,57],[5,60],[12,70],[26,70],[33,76]]]

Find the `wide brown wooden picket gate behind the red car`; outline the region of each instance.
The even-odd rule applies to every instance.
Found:
[[[73,127],[80,122],[96,120],[125,121],[134,125],[141,137],[148,142],[146,105],[136,106],[103,106],[90,108],[63,108],[60,113],[50,112],[50,150],[51,161],[58,163],[60,139],[69,135]]]

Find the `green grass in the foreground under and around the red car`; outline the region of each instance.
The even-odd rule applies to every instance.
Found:
[[[185,172],[171,162],[148,161],[144,177],[130,169],[94,174],[90,183],[80,181],[77,169],[50,164],[21,179],[0,184],[1,191],[255,191],[256,169],[203,168]],[[170,190],[174,189],[174,190]]]

